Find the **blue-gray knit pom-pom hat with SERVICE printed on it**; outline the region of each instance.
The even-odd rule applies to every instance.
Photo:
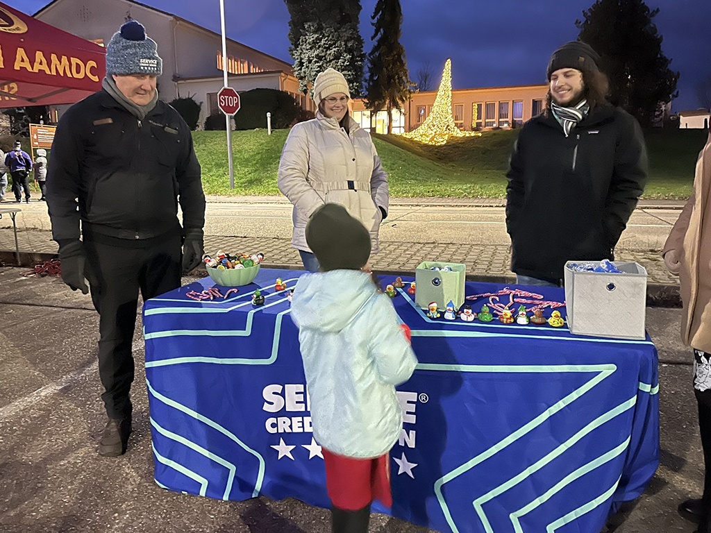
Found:
[[[146,28],[137,21],[128,21],[106,47],[106,73],[159,76],[163,73],[163,60],[157,50],[156,41],[146,37]]]

